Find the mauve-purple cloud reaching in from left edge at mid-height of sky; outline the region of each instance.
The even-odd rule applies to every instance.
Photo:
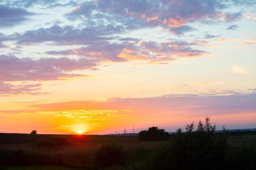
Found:
[[[75,60],[67,57],[60,58],[18,58],[0,55],[0,81],[41,81],[81,77],[69,73],[76,70],[91,69],[97,64],[86,58]]]

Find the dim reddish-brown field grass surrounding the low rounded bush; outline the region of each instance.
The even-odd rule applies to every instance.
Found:
[[[9,137],[17,139],[12,134]],[[27,140],[26,134],[20,137],[20,144],[0,144],[0,169],[4,170],[143,170],[147,169],[148,160],[152,159],[162,141],[141,141],[138,137],[132,136],[110,136],[110,135],[34,135],[36,140],[32,144],[24,144]],[[60,146],[54,145],[47,147],[38,141],[45,137],[53,140],[54,137],[64,137],[66,140]],[[32,139],[32,138],[31,138]],[[29,139],[29,140],[31,140]],[[11,139],[4,139],[5,141]],[[48,141],[47,141],[48,142]],[[65,143],[66,142],[66,143]],[[1,134],[0,134],[1,143]],[[4,142],[2,142],[4,143]],[[36,145],[39,144],[38,145]],[[95,156],[99,148],[105,144],[115,143],[121,146],[122,152],[125,152],[125,167],[110,166],[99,168],[95,164]],[[256,146],[256,135],[229,135],[229,149],[239,148],[241,146]],[[118,149],[118,148],[117,148]],[[118,150],[117,150],[118,151]],[[103,149],[102,152],[105,152]],[[65,167],[65,168],[64,168]]]

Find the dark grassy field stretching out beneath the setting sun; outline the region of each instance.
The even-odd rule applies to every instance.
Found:
[[[256,134],[230,134],[227,141],[229,153],[241,155],[255,150]],[[0,169],[146,170],[156,157],[164,159],[161,154],[166,144],[133,136],[0,133]]]

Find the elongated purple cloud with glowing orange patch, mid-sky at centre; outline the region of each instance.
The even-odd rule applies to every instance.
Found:
[[[169,62],[176,57],[200,57],[209,55],[209,52],[192,49],[189,46],[205,46],[208,41],[173,41],[166,43],[158,42],[124,42],[122,44],[101,43],[89,45],[80,49],[67,49],[63,51],[47,51],[51,55],[79,55],[98,62],[128,62],[144,61],[152,64]]]

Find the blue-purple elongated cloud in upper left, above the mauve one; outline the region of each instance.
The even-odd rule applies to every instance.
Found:
[[[113,40],[114,37],[106,37],[121,31],[121,27],[106,26],[104,28],[86,27],[76,29],[72,26],[54,25],[48,29],[40,28],[37,30],[26,31],[25,33],[14,33],[9,35],[6,40],[18,40],[18,44],[29,45],[43,42],[54,42],[58,45],[69,44],[91,44],[93,42]]]

